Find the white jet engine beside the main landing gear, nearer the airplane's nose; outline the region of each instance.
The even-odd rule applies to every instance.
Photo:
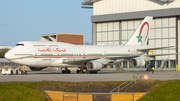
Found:
[[[98,61],[90,61],[87,63],[86,67],[87,67],[87,70],[97,71],[103,68],[103,64]]]

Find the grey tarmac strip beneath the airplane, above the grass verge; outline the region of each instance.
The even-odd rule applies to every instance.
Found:
[[[148,80],[180,80],[180,72],[176,71],[98,71],[97,74],[62,74],[60,71],[31,71],[27,75],[2,75],[0,73],[0,82],[11,81],[62,81],[62,82],[109,82],[132,80],[133,75],[137,79],[140,75],[147,74]]]

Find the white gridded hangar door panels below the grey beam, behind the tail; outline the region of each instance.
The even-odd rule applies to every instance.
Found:
[[[96,45],[123,45],[125,44],[142,20],[118,22],[102,22],[96,24]],[[93,39],[94,40],[94,39]],[[151,47],[176,47],[176,17],[153,19],[148,44]],[[156,50],[155,54],[175,53],[176,48]],[[168,58],[175,60],[176,56],[158,56],[157,60]]]

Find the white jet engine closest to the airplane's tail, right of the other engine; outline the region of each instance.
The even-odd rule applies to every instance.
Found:
[[[146,61],[143,58],[133,58],[130,61],[132,67],[143,67],[146,64]]]

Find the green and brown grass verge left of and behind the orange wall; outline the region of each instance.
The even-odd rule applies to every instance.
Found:
[[[72,85],[119,85],[122,82],[0,82],[0,101],[50,101],[44,90],[76,92]],[[87,88],[86,86],[85,88]],[[79,89],[78,88],[78,89]],[[85,91],[91,91],[85,89]]]

